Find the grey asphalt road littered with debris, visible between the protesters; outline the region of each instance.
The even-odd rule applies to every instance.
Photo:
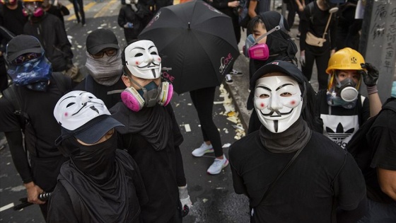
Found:
[[[85,6],[88,9],[86,9],[86,26],[75,22],[69,1],[62,2],[71,11],[71,16],[65,18],[65,25],[73,45],[75,64],[85,64],[86,36],[97,28],[113,30],[120,46],[124,47],[124,33],[117,25],[116,16],[120,8],[120,1],[102,3],[86,1]],[[103,8],[105,8],[104,11]],[[247,71],[245,72],[247,74]],[[240,122],[238,118],[227,119],[227,113],[234,110],[234,103],[228,103],[230,98],[228,94],[226,89],[218,88],[214,104],[214,120],[219,128],[222,144],[224,144],[224,153],[227,157],[228,145],[238,139],[238,134],[233,128],[236,123],[231,120]],[[222,103],[225,98],[221,95],[226,95],[226,103]],[[203,139],[197,113],[191,103],[189,93],[175,94],[171,104],[185,139],[180,149],[185,165],[187,185],[193,202],[190,214],[184,218],[184,222],[248,222],[248,200],[245,196],[236,195],[233,192],[229,166],[219,175],[210,176],[206,173],[206,169],[213,162],[214,154],[206,154],[207,156],[199,158],[191,155],[192,150],[199,147]],[[188,127],[190,127],[190,131],[188,131]],[[13,166],[9,149],[6,147],[0,151],[0,222],[45,222],[37,205],[25,207],[20,211],[12,209],[12,206],[18,205],[18,200],[23,197],[25,197],[25,188]]]

